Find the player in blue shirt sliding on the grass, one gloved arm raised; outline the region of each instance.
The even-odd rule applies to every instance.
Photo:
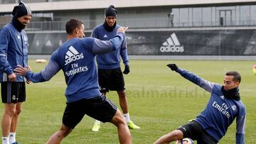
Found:
[[[210,100],[196,120],[168,133],[155,144],[170,143],[181,138],[197,140],[198,144],[218,143],[225,135],[228,126],[236,118],[236,143],[245,143],[245,106],[240,100],[238,86],[241,81],[238,72],[227,72],[224,76],[223,86],[208,82],[191,72],[178,68],[175,64],[167,65],[171,70],[178,72],[182,77],[197,84],[210,92]]]

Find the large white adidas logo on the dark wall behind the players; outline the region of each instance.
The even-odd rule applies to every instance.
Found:
[[[167,38],[166,42],[160,48],[161,52],[183,52],[184,48],[178,41],[175,33],[171,34],[170,38]]]

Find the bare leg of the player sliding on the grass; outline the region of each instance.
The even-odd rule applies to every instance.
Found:
[[[181,140],[181,138],[183,138],[182,131],[174,130],[171,133],[168,133],[168,134],[162,136],[161,138],[159,138],[158,140],[156,140],[156,142],[154,144],[166,144],[166,143],[170,143],[174,140]]]

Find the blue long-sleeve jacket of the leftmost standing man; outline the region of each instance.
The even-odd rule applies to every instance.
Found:
[[[28,37],[9,23],[0,31],[0,82],[9,82],[8,75],[14,73],[17,65],[28,66]],[[16,82],[25,81],[17,76]]]

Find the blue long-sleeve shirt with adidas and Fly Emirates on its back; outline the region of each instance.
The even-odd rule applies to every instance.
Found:
[[[117,33],[111,40],[96,38],[73,38],[53,52],[48,65],[39,73],[28,71],[26,78],[32,82],[48,81],[59,70],[63,70],[67,102],[90,99],[100,95],[95,55],[119,48],[124,33]]]

